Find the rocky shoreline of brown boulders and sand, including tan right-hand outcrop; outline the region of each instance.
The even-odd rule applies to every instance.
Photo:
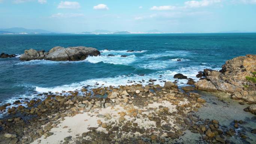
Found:
[[[7,111],[9,116],[0,120],[0,144],[167,144],[178,143],[177,140],[182,140],[186,131],[201,135],[198,143],[234,143],[230,138],[244,122],[234,120],[232,128],[228,129],[216,119],[199,118],[194,112],[204,107],[206,101],[191,91],[223,92],[224,88],[230,88],[232,82],[242,81],[241,85],[248,87],[239,89],[241,85],[236,85],[231,98],[236,92],[255,91],[253,81],[246,78],[255,77],[255,57],[247,55],[229,60],[220,72],[199,72],[202,78],[198,82],[182,74],[175,76],[177,79],[188,79],[188,83],[194,83],[195,87],[180,89],[172,82],[165,82],[161,86],[149,80],[151,83],[145,86],[85,87],[79,91],[43,93],[39,94],[45,96],[43,100],[16,101],[18,106],[7,110],[9,104],[1,105],[0,110]],[[232,77],[232,74],[236,75]],[[216,79],[222,82],[217,84],[223,89],[217,89],[214,85]],[[252,99],[250,96],[243,97],[239,101],[252,104],[254,96]],[[255,109],[255,105],[250,105],[244,110],[255,114]],[[252,129],[252,134],[255,133],[256,129]],[[243,133],[239,136],[244,140],[247,138]]]

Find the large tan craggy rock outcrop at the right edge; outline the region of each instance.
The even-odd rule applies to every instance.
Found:
[[[232,94],[234,99],[243,99],[256,103],[255,83],[246,79],[253,77],[256,71],[256,55],[233,58],[222,65],[222,70],[204,70],[206,79],[195,83],[196,89],[204,91],[222,91]]]

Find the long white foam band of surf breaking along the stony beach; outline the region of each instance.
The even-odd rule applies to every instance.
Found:
[[[159,84],[159,85],[164,85],[164,82],[161,82],[163,80],[166,81],[174,81],[177,79],[174,79],[173,76],[174,74],[177,73],[182,73],[185,76],[188,76],[188,78],[192,78],[195,80],[199,80],[199,78],[196,77],[196,74],[198,74],[198,71],[201,71],[205,68],[210,68],[210,67],[204,67],[204,66],[197,66],[197,67],[182,67],[179,68],[178,70],[171,71],[171,70],[166,70],[166,71],[158,71],[153,74],[147,74],[144,76],[140,75],[131,75],[131,76],[117,76],[117,77],[107,77],[107,78],[99,78],[99,79],[89,79],[85,80],[82,82],[78,83],[71,83],[70,85],[63,85],[63,86],[56,86],[52,88],[42,88],[42,87],[37,87],[36,86],[36,91],[37,92],[62,92],[62,91],[74,91],[74,90],[80,90],[83,86],[90,85],[92,88],[96,88],[98,86],[119,86],[119,85],[132,85],[135,83],[140,83],[143,85],[147,85],[147,81],[149,79],[156,79],[157,81],[154,82],[154,84]],[[160,75],[162,77],[160,77]],[[159,80],[161,79],[161,80]],[[142,80],[145,80],[145,82],[142,82]],[[135,82],[133,82],[135,81]],[[140,82],[139,82],[140,81]],[[185,86],[188,80],[182,79],[179,80],[178,85],[179,86]],[[95,84],[98,85],[95,85]]]

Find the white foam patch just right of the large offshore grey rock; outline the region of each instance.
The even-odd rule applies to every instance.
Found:
[[[123,64],[128,65],[131,64],[136,60],[135,55],[129,55],[126,57],[121,57],[121,55],[115,55],[115,56],[89,56],[85,59],[85,61],[91,62],[91,63],[98,63],[98,62],[104,62],[109,64]]]

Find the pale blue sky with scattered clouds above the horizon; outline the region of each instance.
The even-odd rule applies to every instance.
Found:
[[[0,28],[256,31],[256,0],[0,0]]]

